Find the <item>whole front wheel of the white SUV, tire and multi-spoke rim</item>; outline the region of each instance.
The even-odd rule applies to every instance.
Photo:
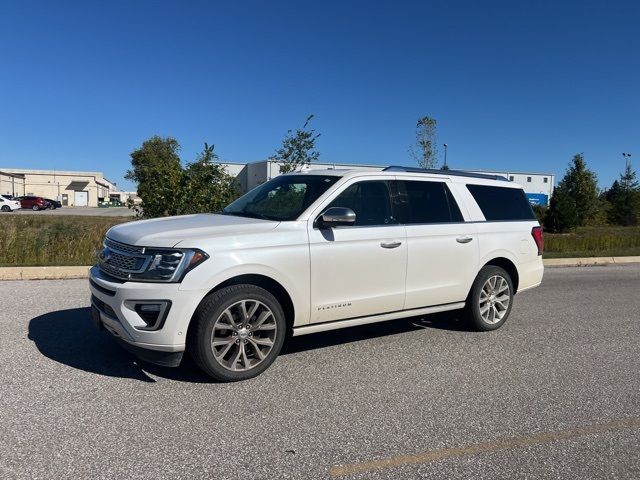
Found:
[[[189,350],[198,366],[218,381],[235,382],[265,371],[286,335],[278,300],[255,285],[233,285],[203,300],[193,318]]]

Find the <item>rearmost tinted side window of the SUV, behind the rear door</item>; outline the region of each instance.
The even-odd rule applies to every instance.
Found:
[[[467,185],[484,218],[489,221],[535,220],[524,191],[519,188]]]

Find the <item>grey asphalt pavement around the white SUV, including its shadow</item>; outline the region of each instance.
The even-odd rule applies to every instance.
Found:
[[[547,269],[455,312],[297,337],[264,374],[138,363],[87,282],[0,282],[0,478],[640,478],[640,266]]]

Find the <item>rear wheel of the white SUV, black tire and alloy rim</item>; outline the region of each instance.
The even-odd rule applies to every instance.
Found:
[[[502,309],[504,306],[504,300],[498,301],[496,296],[494,295],[493,300],[491,300],[491,295],[487,293],[485,286],[490,279],[493,278],[502,278],[506,282],[508,286],[508,298],[509,302],[506,306],[506,309]],[[497,281],[498,282],[498,281]],[[502,284],[504,285],[504,284]],[[485,289],[485,293],[483,294],[483,289]],[[489,288],[489,292],[497,290],[491,290]],[[504,292],[501,292],[504,293]],[[480,296],[486,298],[485,301],[481,302]],[[496,267],[494,265],[486,265],[482,267],[480,272],[478,272],[478,276],[473,282],[471,286],[471,291],[469,292],[469,296],[466,301],[466,318],[467,322],[474,330],[486,332],[489,330],[496,330],[500,328],[509,318],[509,314],[511,313],[511,308],[513,307],[513,281],[511,280],[511,276],[500,267]],[[502,298],[502,296],[498,297]],[[491,303],[491,302],[494,303]],[[483,305],[483,311],[481,311],[481,303]],[[493,306],[495,305],[495,310]],[[487,307],[485,309],[484,307]],[[486,313],[485,313],[486,312]],[[498,313],[500,312],[500,313]],[[500,319],[497,319],[496,316],[503,314]],[[485,316],[486,315],[486,316]],[[488,317],[488,318],[487,318]],[[492,318],[493,317],[493,318]]]

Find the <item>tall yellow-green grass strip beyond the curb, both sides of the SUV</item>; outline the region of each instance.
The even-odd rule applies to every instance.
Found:
[[[0,214],[0,266],[92,265],[107,230],[126,217]],[[545,233],[545,258],[640,255],[640,227]]]

